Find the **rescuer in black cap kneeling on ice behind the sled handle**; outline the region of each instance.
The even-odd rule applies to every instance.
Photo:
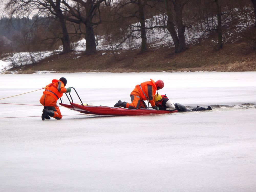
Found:
[[[60,108],[56,104],[58,99],[62,97],[63,93],[70,93],[71,88],[65,88],[67,84],[67,79],[61,77],[60,80],[54,79],[52,83],[45,87],[44,94],[40,98],[40,103],[44,105],[42,120],[51,119],[61,119],[62,115]]]

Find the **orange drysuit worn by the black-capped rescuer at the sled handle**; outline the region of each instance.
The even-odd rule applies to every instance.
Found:
[[[53,118],[61,119],[62,115],[60,112],[60,108],[56,104],[58,99],[62,97],[63,93],[66,93],[67,89],[65,88],[64,84],[54,79],[52,83],[46,86],[44,94],[40,98],[40,103],[44,105],[48,110],[54,111]]]

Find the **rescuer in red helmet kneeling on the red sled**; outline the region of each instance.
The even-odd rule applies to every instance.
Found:
[[[129,109],[140,109],[147,108],[145,100],[150,102],[151,106],[155,110],[159,110],[159,107],[155,105],[153,95],[156,91],[164,87],[164,82],[162,80],[157,80],[156,82],[150,79],[150,81],[143,82],[135,86],[135,89],[131,92],[131,103],[122,102],[119,100],[114,107],[124,107]]]

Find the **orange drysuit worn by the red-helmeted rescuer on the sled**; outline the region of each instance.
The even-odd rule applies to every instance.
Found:
[[[126,108],[129,109],[138,109],[143,106],[143,100],[148,100],[152,107],[155,106],[155,101],[153,95],[156,94],[156,85],[155,81],[146,81],[135,86],[135,89],[131,92],[131,101],[132,103],[126,103]],[[143,90],[143,91],[142,91]],[[144,93],[143,93],[144,92]]]

